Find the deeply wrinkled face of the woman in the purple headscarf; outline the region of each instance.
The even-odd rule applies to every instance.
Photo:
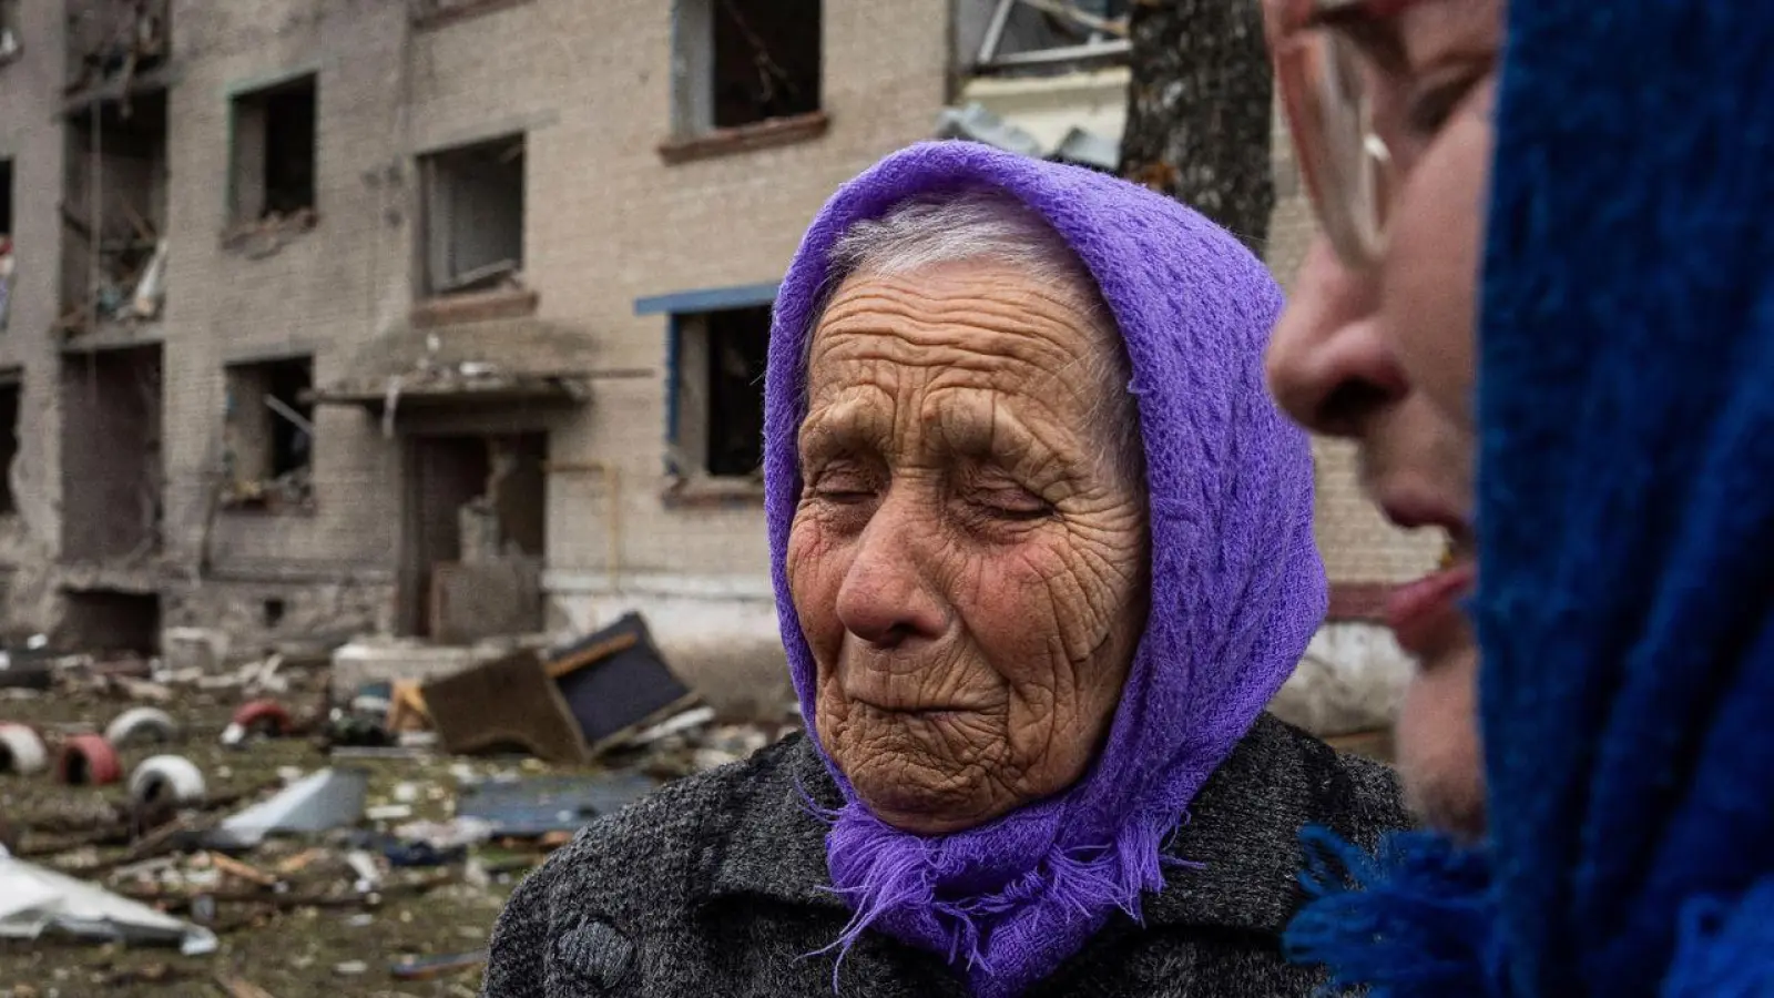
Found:
[[[1146,499],[1111,458],[1089,304],[995,263],[850,277],[812,334],[788,581],[816,730],[940,835],[1084,774],[1144,627]]]

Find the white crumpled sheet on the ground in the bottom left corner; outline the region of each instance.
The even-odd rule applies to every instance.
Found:
[[[184,955],[216,948],[208,929],[0,849],[0,938],[35,939],[50,931],[105,943],[177,945]]]

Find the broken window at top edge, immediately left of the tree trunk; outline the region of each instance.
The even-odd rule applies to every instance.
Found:
[[[977,71],[1125,60],[1132,0],[963,0],[956,41]]]

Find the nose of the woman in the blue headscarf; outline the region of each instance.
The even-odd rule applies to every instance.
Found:
[[[1377,282],[1318,238],[1265,355],[1268,391],[1307,430],[1352,437],[1409,385],[1373,318]]]

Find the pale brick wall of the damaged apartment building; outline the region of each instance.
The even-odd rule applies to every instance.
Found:
[[[57,313],[64,178],[62,30],[27,5],[23,59],[0,67],[0,156],[16,158],[21,266],[0,366],[25,366],[28,428],[14,478],[21,511],[0,522],[0,561],[44,565],[60,522]],[[525,135],[525,282],[539,316],[582,330],[601,380],[578,412],[546,419],[548,582],[557,622],[589,625],[648,598],[711,600],[766,614],[756,497],[667,497],[667,320],[635,300],[781,277],[805,224],[844,179],[930,133],[944,103],[947,0],[828,0],[823,110],[809,140],[667,165],[672,5],[660,0],[514,0],[415,27],[387,0],[188,0],[174,20],[165,227],[174,242],[165,318],[165,542],[169,561],[208,550],[202,591],[167,584],[169,622],[250,629],[266,600],[284,625],[387,622],[401,545],[401,449],[360,410],[316,410],[314,510],[211,515],[222,469],[224,366],[312,355],[316,384],[351,371],[404,323],[419,259],[419,178],[431,151]],[[231,96],[318,78],[318,222],[229,243]],[[1281,206],[1270,261],[1291,273],[1311,222],[1277,142]],[[1338,581],[1394,579],[1426,558],[1354,490],[1345,448],[1320,448],[1320,542]],[[18,591],[48,584],[14,581]],[[697,611],[685,609],[685,627]]]

